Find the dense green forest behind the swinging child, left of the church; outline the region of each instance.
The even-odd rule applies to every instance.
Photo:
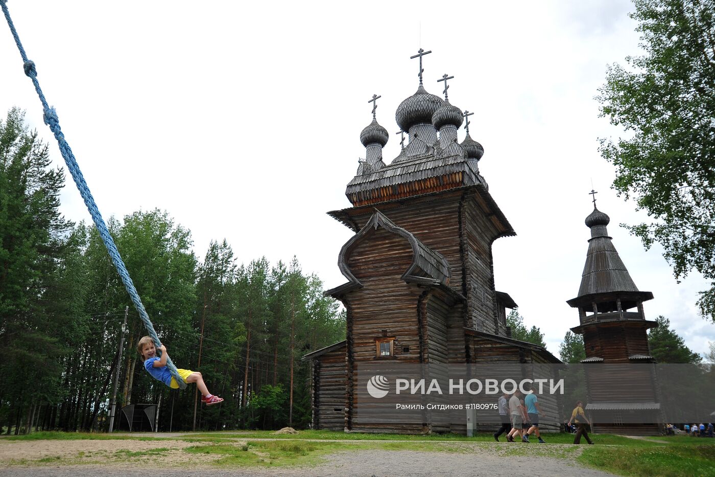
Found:
[[[295,258],[237,264],[225,240],[199,261],[190,231],[166,211],[109,218],[172,360],[225,398],[202,406],[195,387],[170,390],[144,371],[134,344],[147,333],[132,308],[118,356],[127,291],[96,229],[59,215],[64,175],[49,163],[11,110],[0,122],[1,430],[107,429],[117,365],[119,406],[157,404],[162,430],[310,423],[310,365],[300,357],[345,339],[345,314],[317,276]]]

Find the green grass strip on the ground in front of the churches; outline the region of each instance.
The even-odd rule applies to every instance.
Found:
[[[297,434],[274,434],[271,431],[222,433],[181,433],[178,437],[151,434],[107,435],[99,433],[43,432],[6,436],[2,440],[74,440],[119,439],[156,441],[149,450],[117,450],[112,461],[137,462],[138,459],[164,456],[202,455],[212,466],[240,468],[245,466],[312,466],[325,461],[325,456],[344,450],[418,450],[423,452],[473,453],[483,450],[508,456],[543,456],[577,461],[584,466],[623,476],[714,476],[715,439],[689,436],[661,436],[632,439],[620,435],[593,435],[596,445],[572,445],[571,434],[545,434],[547,444],[515,443],[495,445],[489,433],[472,438],[463,435],[400,435],[340,433],[325,430],[302,430]],[[167,442],[174,441],[174,447]],[[501,439],[504,440],[503,438]],[[176,447],[177,441],[183,442]],[[557,445],[550,445],[557,444]],[[165,445],[165,446],[164,446]],[[18,462],[29,465],[97,463],[82,455],[72,458],[45,457]],[[101,454],[100,454],[101,455]],[[152,456],[153,455],[153,456]]]

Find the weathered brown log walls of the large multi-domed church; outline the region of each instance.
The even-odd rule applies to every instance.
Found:
[[[499,236],[499,224],[495,223],[498,219],[474,190],[445,191],[438,196],[376,206],[397,226],[413,233],[425,246],[447,259],[450,264],[448,286],[465,297],[465,301],[438,287],[418,286],[402,279],[413,261],[412,247],[405,238],[382,227],[365,234],[347,257],[346,265],[362,287],[341,294],[347,309],[346,347],[331,352],[335,353],[334,357],[327,357],[330,353],[326,353],[319,358],[320,381],[315,389],[317,422],[320,428],[337,428],[338,419],[332,414],[337,414],[337,406],[331,407],[328,403],[334,404],[340,395],[337,355],[342,353],[346,431],[466,433],[465,413],[455,413],[450,419],[452,423],[440,425],[360,422],[354,413],[360,402],[352,385],[358,380],[359,363],[374,360],[435,365],[533,360],[514,344],[475,339],[465,334],[465,327],[488,333],[505,332],[500,326],[504,317],[500,321],[491,254],[491,244]],[[372,207],[347,210],[349,220],[358,229],[368,223],[373,213]],[[381,338],[394,338],[392,356],[378,356],[376,342]],[[445,375],[437,377],[446,382],[448,371],[443,369]],[[327,374],[329,372],[332,374]],[[332,387],[324,388],[324,379],[332,382]],[[327,390],[325,397],[324,389]],[[556,413],[557,403],[551,398],[544,397],[540,403],[547,413]],[[558,423],[558,414],[553,422]]]

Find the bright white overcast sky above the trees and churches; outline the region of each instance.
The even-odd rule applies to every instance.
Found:
[[[105,219],[164,209],[192,231],[201,257],[226,238],[240,262],[295,254],[331,288],[352,232],[325,215],[365,157],[372,119],[394,133],[395,109],[418,86],[474,111],[480,171],[518,234],[494,244],[496,288],[519,304],[548,349],[578,313],[590,237],[591,184],[608,231],[643,291],[646,317],[671,319],[696,352],[715,341],[698,316],[692,274],[677,284],[654,247],[618,223],[647,221],[611,190],[598,138],[621,130],[593,99],[606,65],[637,55],[631,4],[621,0],[493,2],[8,1],[38,79]],[[0,112],[27,111],[64,168],[6,26],[0,27]],[[464,137],[460,130],[460,140]],[[398,155],[399,135],[385,147]],[[74,184],[61,211],[91,221]]]

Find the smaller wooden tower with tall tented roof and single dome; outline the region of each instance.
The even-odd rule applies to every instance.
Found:
[[[610,221],[594,199],[581,286],[567,302],[578,309],[571,331],[586,348],[586,412],[596,433],[655,435],[662,420],[647,331],[658,323],[646,320],[643,307],[653,294],[633,283],[608,236]]]

